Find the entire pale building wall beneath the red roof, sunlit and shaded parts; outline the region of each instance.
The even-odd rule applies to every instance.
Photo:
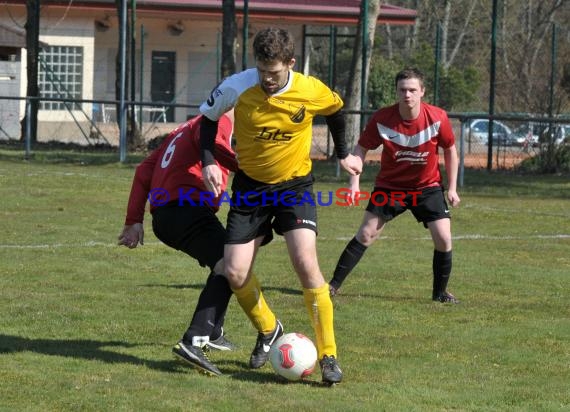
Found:
[[[109,28],[101,30],[96,26],[96,20],[108,21]],[[7,25],[23,28],[26,22],[26,10],[23,6],[10,5],[0,8],[0,21]],[[173,22],[182,23],[184,30],[179,35],[173,35],[168,25]],[[176,85],[175,102],[192,105],[194,107],[176,108],[174,123],[185,121],[189,115],[198,113],[198,105],[209,96],[212,88],[221,80],[219,74],[221,59],[221,18],[191,18],[188,15],[180,20],[179,16],[158,13],[154,15],[140,14],[136,22],[136,53],[135,65],[137,67],[136,100],[150,102],[151,90],[151,56],[153,51],[172,51],[176,53]],[[266,22],[250,20],[250,33],[247,49],[248,67],[253,67],[251,43],[255,32],[269,25]],[[141,26],[144,28],[144,39],[141,42]],[[297,56],[300,61],[302,54],[302,25],[280,24],[280,27],[291,30],[297,42]],[[236,68],[242,67],[241,28],[238,28],[238,50],[236,55]],[[40,19],[40,40],[50,46],[81,46],[83,47],[83,89],[82,98],[86,100],[115,100],[115,57],[118,50],[119,31],[115,12],[89,10],[82,11],[75,7],[54,8],[42,7]],[[141,62],[142,45],[142,62]],[[128,57],[129,58],[129,57]],[[129,58],[130,60],[130,58]],[[17,96],[26,95],[26,52],[22,50],[21,64],[19,65],[19,81],[10,93]],[[142,68],[142,96],[141,89]],[[297,70],[302,68],[298,65]],[[2,87],[0,95],[8,89]],[[130,100],[130,92],[126,96]],[[2,102],[4,103],[4,102]],[[114,122],[116,119],[114,105],[106,104],[107,116],[102,115],[99,104],[82,104],[82,110],[40,110],[38,113],[40,140],[77,139],[85,142],[83,136],[89,135],[93,129],[91,120],[95,122]],[[19,121],[24,117],[25,103],[16,103],[12,116]],[[109,115],[110,114],[110,115]],[[143,116],[143,121],[149,121]],[[14,123],[16,124],[16,122]],[[163,127],[164,125],[161,125]],[[172,126],[172,125],[171,125]],[[81,131],[78,130],[81,128]],[[91,129],[91,130],[90,130]],[[46,136],[41,136],[45,133]],[[0,134],[1,131],[0,131]],[[18,134],[19,136],[19,131]]]

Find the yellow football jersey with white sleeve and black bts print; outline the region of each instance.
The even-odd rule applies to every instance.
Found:
[[[273,184],[309,174],[313,117],[333,114],[342,106],[342,99],[323,82],[294,71],[284,88],[268,96],[259,85],[257,69],[250,69],[222,82],[200,111],[217,120],[234,107],[239,168]]]

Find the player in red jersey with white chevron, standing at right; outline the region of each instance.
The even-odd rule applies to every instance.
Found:
[[[331,295],[337,293],[366,249],[380,236],[386,223],[409,209],[418,222],[429,229],[433,239],[432,299],[458,303],[447,292],[452,267],[451,215],[447,202],[453,207],[460,202],[455,136],[447,113],[422,102],[424,76],[419,70],[402,70],[395,80],[398,103],[381,108],[372,115],[354,149],[354,154],[364,162],[368,150],[382,145],[382,166],[362,224],[341,254],[329,282],[330,292]],[[440,147],[447,173],[447,196],[444,195],[439,171]],[[359,175],[350,176],[353,199],[360,191],[359,178]]]

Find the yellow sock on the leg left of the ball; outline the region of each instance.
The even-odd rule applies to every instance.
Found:
[[[258,332],[267,334],[275,329],[277,318],[265,302],[255,275],[252,274],[243,287],[232,290],[239,305]]]

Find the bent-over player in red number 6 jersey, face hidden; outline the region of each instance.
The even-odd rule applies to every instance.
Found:
[[[215,138],[215,160],[223,176],[222,192],[226,189],[229,172],[237,170],[235,153],[230,146],[232,117],[231,112],[222,117]],[[156,237],[210,268],[182,342],[186,343],[186,350],[192,352],[197,368],[220,375],[203,349],[233,349],[222,328],[232,290],[222,275],[226,231],[216,216],[220,197],[204,196],[207,189],[200,161],[201,119],[202,116],[195,117],[173,130],[137,167],[119,245],[133,249],[139,243],[144,244],[143,218],[148,199]]]

